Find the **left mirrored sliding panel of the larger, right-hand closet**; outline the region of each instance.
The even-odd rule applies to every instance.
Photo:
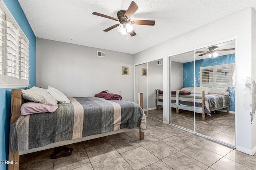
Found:
[[[170,62],[170,121],[194,131],[194,52],[173,56]]]

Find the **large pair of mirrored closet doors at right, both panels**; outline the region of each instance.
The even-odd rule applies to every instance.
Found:
[[[235,146],[235,40],[170,62],[171,124]]]

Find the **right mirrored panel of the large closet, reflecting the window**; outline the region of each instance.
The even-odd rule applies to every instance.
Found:
[[[204,113],[196,100],[195,132],[235,146],[235,41],[198,49],[195,60],[196,95],[204,98]]]

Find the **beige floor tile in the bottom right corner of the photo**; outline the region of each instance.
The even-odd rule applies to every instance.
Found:
[[[256,157],[255,156],[245,154],[238,150],[232,150],[232,152],[227,154],[225,156],[225,158],[228,158],[228,159],[233,160],[239,164],[242,164],[244,166],[247,166],[249,168],[256,170]]]

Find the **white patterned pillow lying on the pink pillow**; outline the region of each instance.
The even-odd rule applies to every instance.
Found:
[[[32,102],[47,104],[51,106],[55,106],[57,101],[54,97],[52,97],[47,90],[39,87],[32,87],[27,90],[21,90],[22,97],[26,100],[30,100]]]

